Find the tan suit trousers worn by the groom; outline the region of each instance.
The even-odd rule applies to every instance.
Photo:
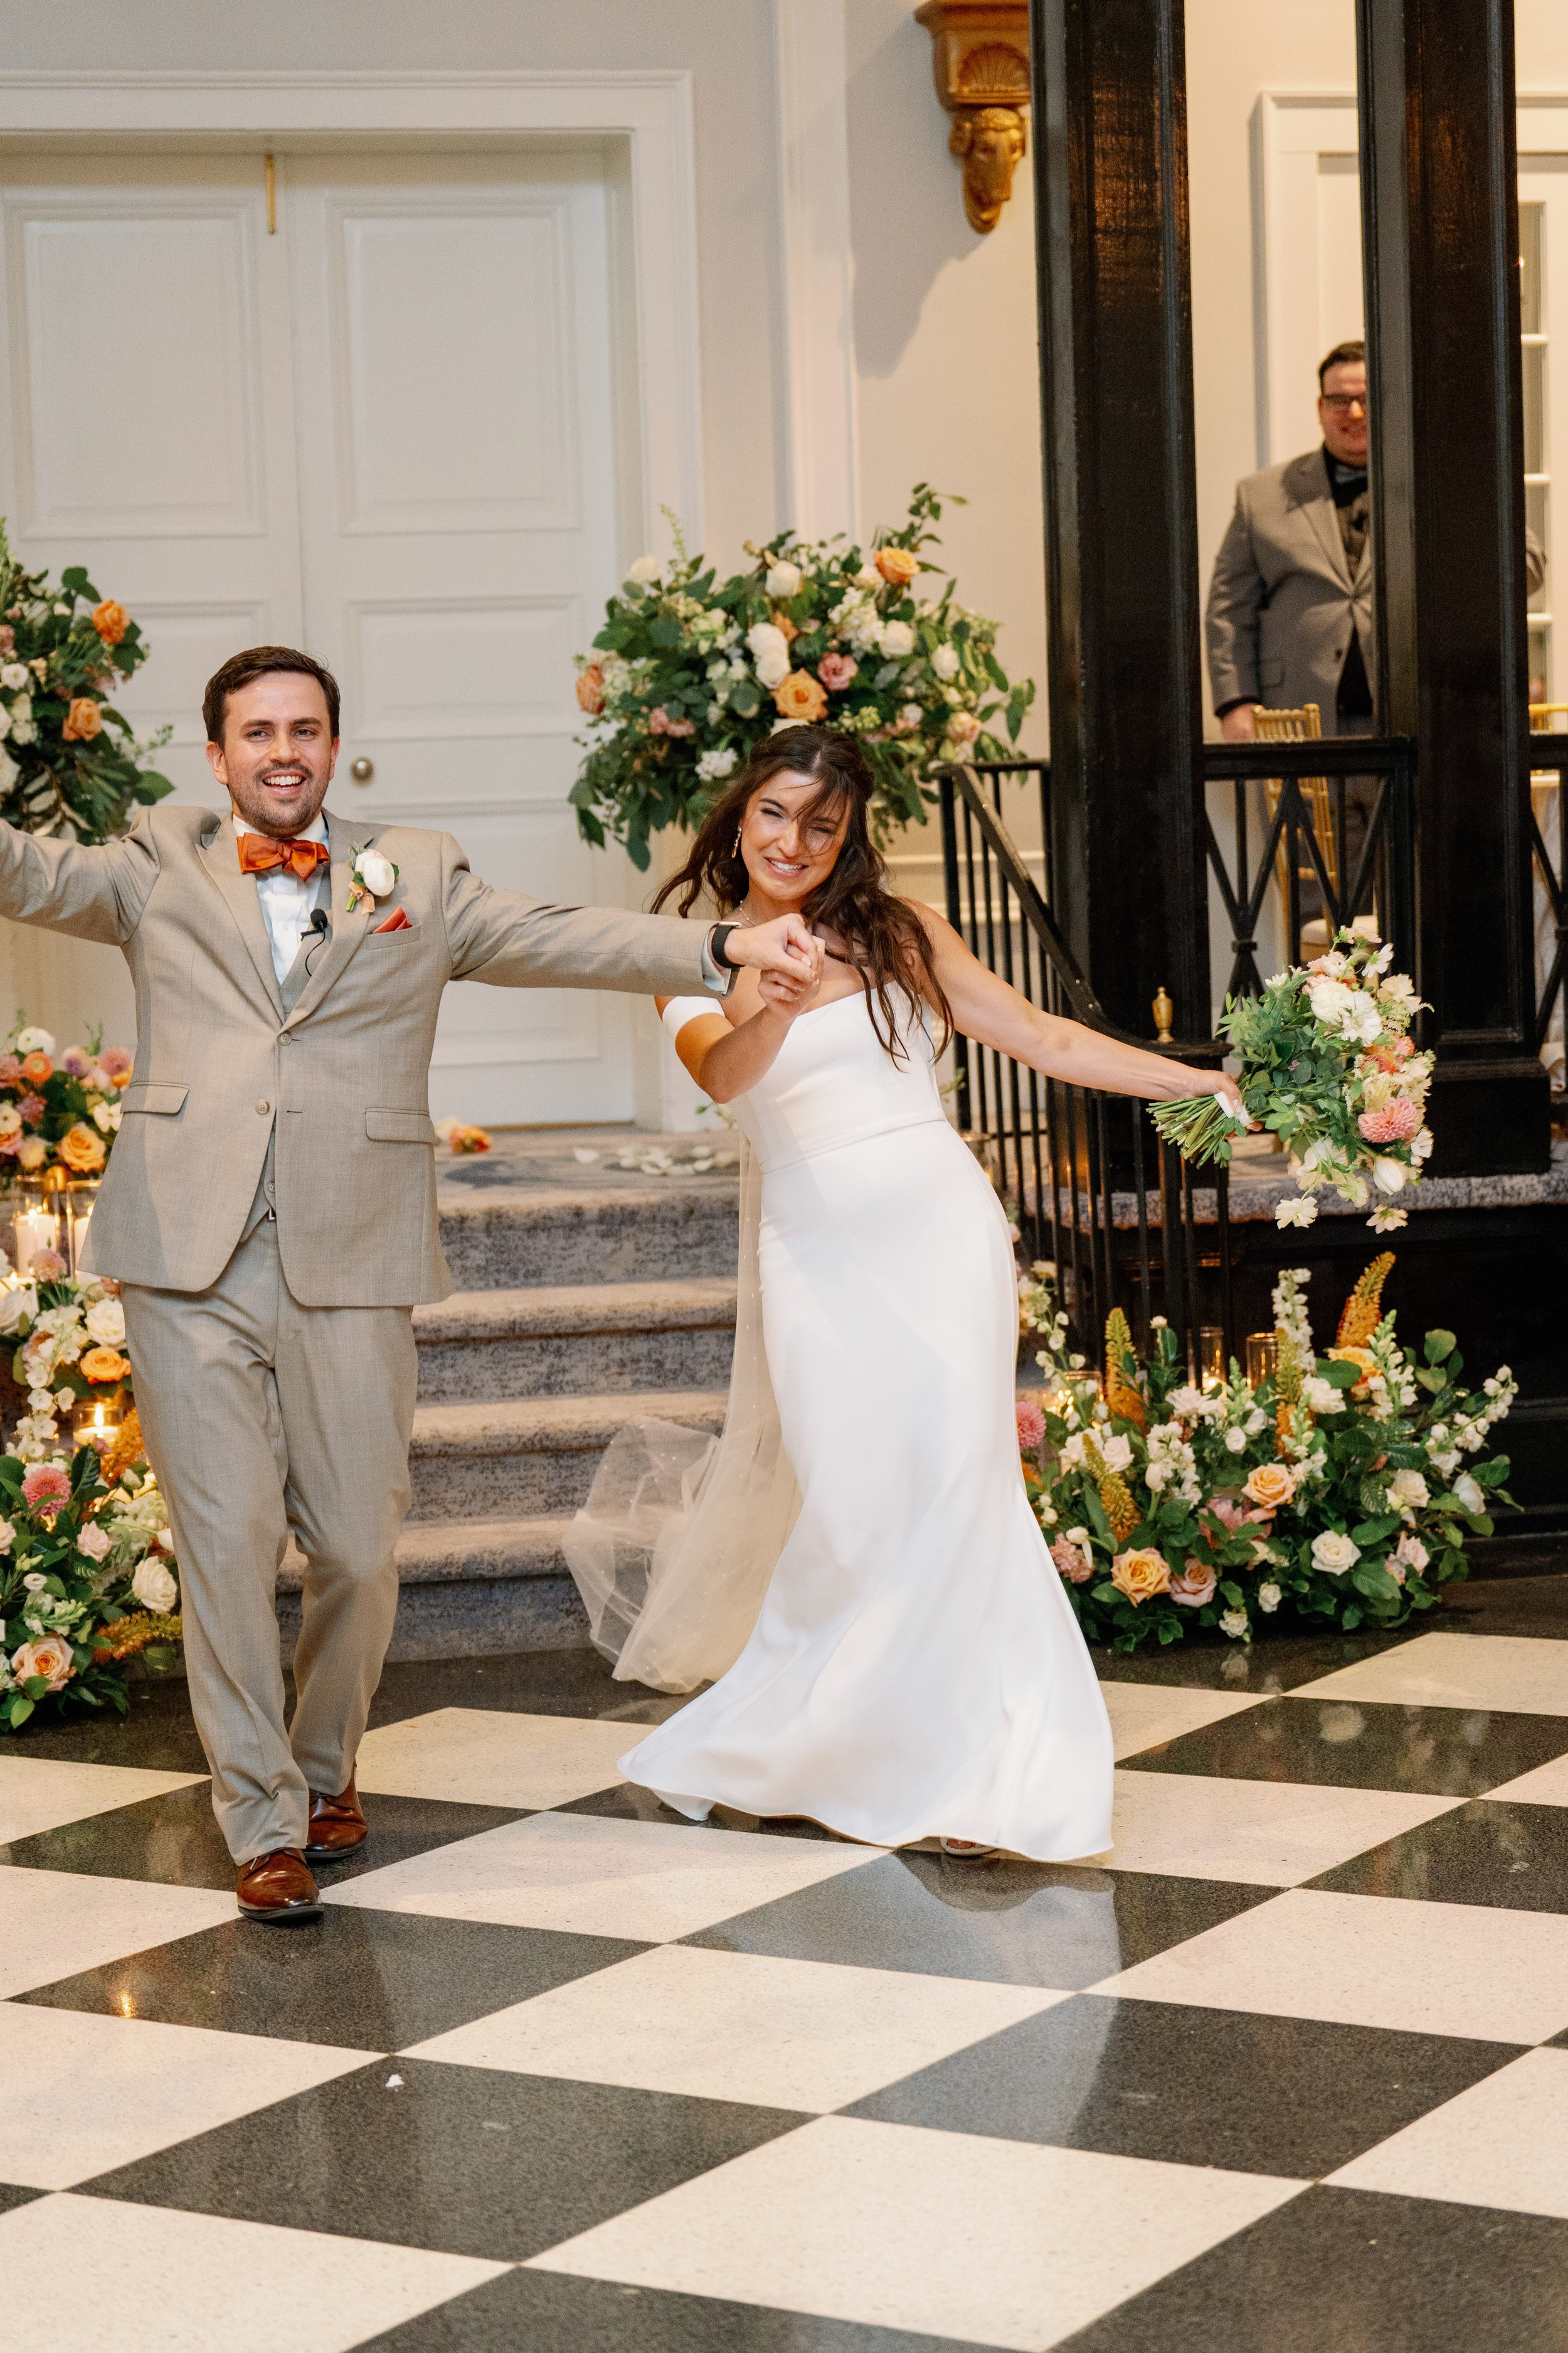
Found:
[[[261,1217],[205,1292],[122,1287],[148,1461],[169,1504],[190,1711],[235,1861],[303,1847],[308,1791],[355,1767],[397,1614],[409,1508],[409,1308],[303,1308]],[[275,1588],[306,1598],[284,1729]]]

